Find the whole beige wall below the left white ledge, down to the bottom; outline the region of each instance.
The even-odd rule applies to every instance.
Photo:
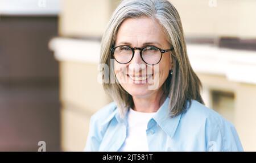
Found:
[[[98,83],[98,65],[60,62],[61,147],[64,151],[82,151],[90,116],[110,99]]]

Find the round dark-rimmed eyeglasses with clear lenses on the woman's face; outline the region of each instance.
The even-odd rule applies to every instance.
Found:
[[[133,60],[134,52],[137,49],[140,51],[141,58],[146,64],[155,65],[160,62],[163,53],[172,51],[174,47],[164,50],[153,45],[147,45],[146,47],[142,48],[132,48],[129,45],[119,45],[111,48],[110,51],[115,61],[117,61],[119,64],[127,64]]]

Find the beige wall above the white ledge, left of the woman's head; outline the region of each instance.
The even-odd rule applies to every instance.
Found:
[[[60,35],[100,37],[118,0],[64,0],[60,14]]]

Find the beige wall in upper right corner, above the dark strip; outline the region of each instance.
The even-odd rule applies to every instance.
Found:
[[[170,0],[170,2],[180,14],[187,36],[256,37],[256,1]]]

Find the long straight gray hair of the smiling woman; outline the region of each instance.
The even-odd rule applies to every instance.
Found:
[[[152,18],[158,20],[167,40],[174,47],[172,51],[174,68],[162,85],[163,96],[170,97],[170,116],[179,115],[191,100],[204,103],[200,95],[201,82],[191,68],[183,35],[180,16],[175,7],[167,0],[124,0],[113,12],[104,32],[101,43],[101,64],[110,68],[109,78],[115,78],[114,67],[110,65],[110,48],[115,44],[115,37],[123,20],[127,18]],[[171,57],[170,57],[171,58]],[[111,66],[111,67],[110,67]],[[119,83],[103,83],[106,93],[117,103],[121,114],[133,107],[133,98]],[[162,97],[162,99],[164,99]]]

